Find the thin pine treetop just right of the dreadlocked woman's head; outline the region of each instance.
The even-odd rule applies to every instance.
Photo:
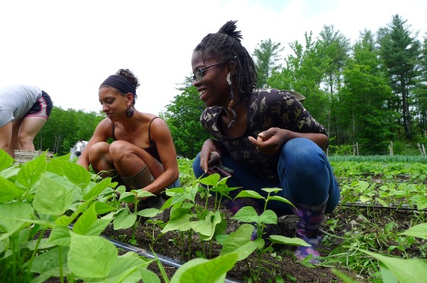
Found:
[[[278,61],[281,59],[280,52],[283,49],[280,48],[280,43],[272,42],[271,38],[258,43],[253,51],[255,70],[258,74],[256,87],[269,87],[268,79],[270,75],[281,67]]]

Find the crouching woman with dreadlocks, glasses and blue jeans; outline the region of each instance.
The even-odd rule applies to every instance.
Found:
[[[285,90],[254,90],[257,74],[241,38],[236,21],[228,21],[194,49],[193,85],[206,105],[201,124],[213,136],[196,156],[194,174],[197,178],[215,172],[224,176],[226,167],[233,172],[228,186],[263,196],[261,188],[282,188],[278,195],[295,208],[269,201],[268,209],[278,216],[298,216],[296,235],[311,246],[297,247],[295,257],[310,256],[310,262],[318,263],[322,217],[339,201],[339,187],[323,151],[328,146],[327,132],[301,105],[298,98],[304,97],[297,92],[292,92],[295,96]],[[263,207],[242,198],[226,205],[236,213],[249,203],[258,213]]]

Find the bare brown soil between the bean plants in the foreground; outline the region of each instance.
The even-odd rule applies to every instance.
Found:
[[[232,214],[226,210],[223,211],[226,215],[227,219],[227,233],[231,233],[233,230],[238,228],[238,223],[236,220],[231,220]],[[369,215],[367,215],[369,213]],[[371,219],[374,217],[376,221],[376,225],[378,227],[384,228],[384,226],[394,221],[396,223],[396,227],[399,227],[399,230],[406,230],[409,228],[411,215],[413,215],[412,211],[408,210],[393,210],[392,212],[388,209],[384,208],[362,208],[362,207],[354,207],[354,206],[344,206],[339,205],[334,210],[333,213],[325,215],[325,218],[322,220],[322,230],[327,231],[327,233],[343,236],[344,233],[348,231],[352,231],[352,227],[354,223],[360,223],[363,216]],[[332,232],[329,230],[329,225],[326,222],[330,219],[337,220],[337,225]],[[297,223],[296,215],[285,215],[278,220],[278,228],[280,229],[280,233],[278,235],[284,235],[286,237],[294,237],[295,225]],[[382,221],[382,223],[381,223]],[[155,235],[158,235],[161,228],[156,228]],[[137,244],[135,246],[149,251],[151,249],[150,245],[152,242],[150,237],[144,231],[148,231],[147,225],[139,225],[136,230],[136,241]],[[113,230],[112,226],[109,226],[103,233],[104,236],[110,237],[115,240],[120,240],[121,242],[127,242],[132,237],[132,229],[127,230]],[[183,264],[189,259],[193,259],[195,257],[201,256],[202,247],[197,240],[196,236],[194,236],[194,240],[191,241],[191,252],[190,255],[185,255],[184,258],[181,257],[181,247],[182,245],[178,242],[179,234],[178,233],[167,233],[163,237],[159,238],[157,242],[154,244],[154,252],[157,255],[162,257],[167,257],[176,262],[180,262]],[[328,237],[327,246],[321,245],[320,253],[322,256],[327,256],[330,251],[334,250],[334,248],[338,247],[342,243],[342,239],[339,237]],[[386,243],[387,244],[387,243]],[[395,242],[388,243],[391,245],[396,245]],[[188,243],[184,242],[184,247],[188,247]],[[260,276],[261,282],[342,282],[334,273],[332,273],[332,269],[339,269],[340,272],[344,272],[347,276],[357,279],[359,282],[368,282],[366,279],[367,276],[362,274],[362,276],[355,274],[349,269],[345,267],[337,266],[307,266],[295,260],[293,257],[293,250],[295,247],[291,246],[273,246],[274,253],[268,252],[263,256],[262,265],[265,267]],[[219,250],[221,249],[220,245],[213,246],[213,257],[218,255]],[[395,250],[396,251],[396,250]],[[399,255],[399,251],[396,251]],[[411,257],[421,257],[420,250],[406,250]],[[275,255],[273,257],[273,255]],[[169,279],[172,278],[174,272],[176,271],[175,267],[170,267],[167,265],[163,265],[164,269],[167,271]],[[255,260],[255,254],[248,257],[248,264],[243,260],[241,262],[237,262],[236,265],[227,273],[227,279],[230,282],[251,282],[250,281],[250,270],[252,271],[255,267],[258,266],[258,262]],[[159,272],[159,269],[155,264],[150,265],[150,268],[153,272]],[[159,274],[159,273],[157,273]],[[159,276],[160,277],[160,276]],[[278,281],[275,279],[283,278],[283,281]],[[161,277],[160,277],[161,278]]]

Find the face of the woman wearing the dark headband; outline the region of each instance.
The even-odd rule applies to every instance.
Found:
[[[104,112],[113,122],[126,117],[128,105],[132,105],[133,96],[131,93],[122,95],[114,87],[100,87],[98,96]]]

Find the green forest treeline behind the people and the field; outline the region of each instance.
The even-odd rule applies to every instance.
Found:
[[[305,95],[305,108],[325,125],[328,154],[420,154],[427,144],[427,33],[411,31],[408,20],[394,15],[378,31],[360,31],[354,43],[334,26],[323,26],[305,42],[263,39],[251,54],[258,72],[257,87],[293,90]],[[172,132],[179,156],[193,159],[209,133],[199,122],[204,102],[184,78],[179,95],[160,116]],[[53,97],[54,100],[54,97]],[[102,112],[53,107],[39,132],[36,149],[68,154],[78,139],[89,140]]]

